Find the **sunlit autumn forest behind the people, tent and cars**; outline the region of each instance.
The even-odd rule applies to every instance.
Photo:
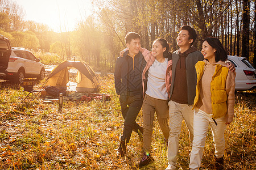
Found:
[[[44,64],[76,56],[94,70],[113,71],[127,32],[138,32],[147,49],[155,39],[167,39],[173,52],[179,28],[191,25],[199,36],[197,49],[205,37],[215,36],[229,55],[246,57],[256,66],[255,0],[92,0],[92,5],[92,15],[81,16],[74,31],[57,33],[24,20],[26,12],[16,2],[0,0],[0,34],[11,46],[32,50]]]

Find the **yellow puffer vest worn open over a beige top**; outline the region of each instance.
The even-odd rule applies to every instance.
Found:
[[[200,97],[200,79],[204,73],[205,62],[199,61],[195,65],[197,73],[196,97],[194,99],[193,109],[195,109]],[[215,67],[212,81],[210,82],[210,98],[212,99],[213,119],[225,116],[227,112],[227,94],[226,78],[228,76],[228,67],[217,64]]]

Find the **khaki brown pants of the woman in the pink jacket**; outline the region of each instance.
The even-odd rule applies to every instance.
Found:
[[[151,140],[152,140],[152,131],[153,131],[153,122],[156,116],[158,118],[158,123],[163,132],[164,138],[168,139],[169,137],[169,112],[168,112],[168,100],[155,99],[150,97],[147,94],[144,97],[142,105],[143,113],[143,150],[150,153],[151,150]]]

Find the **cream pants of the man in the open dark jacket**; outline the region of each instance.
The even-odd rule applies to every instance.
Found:
[[[179,150],[179,138],[181,132],[182,120],[188,127],[191,144],[193,141],[193,105],[180,104],[175,101],[169,101],[169,116],[170,116],[170,135],[168,145],[168,164],[176,167],[177,152]]]

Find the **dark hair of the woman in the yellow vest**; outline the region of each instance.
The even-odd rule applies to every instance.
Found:
[[[216,49],[215,52],[215,61],[226,61],[228,59],[228,56],[226,54],[226,50],[224,49],[223,45],[221,44],[220,40],[218,40],[216,37],[207,37],[205,41],[208,42],[212,48]]]

